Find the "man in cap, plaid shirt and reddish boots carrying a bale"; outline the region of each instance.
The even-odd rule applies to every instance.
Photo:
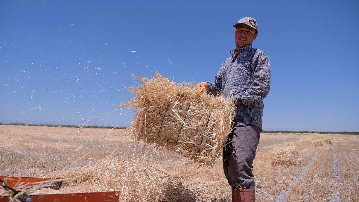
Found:
[[[223,169],[232,187],[232,201],[254,202],[252,163],[262,130],[262,100],[269,92],[271,65],[262,50],[252,48],[258,36],[256,19],[242,18],[233,27],[236,49],[230,51],[232,56],[222,64],[214,83],[201,82],[197,88],[236,101],[236,127],[223,148]]]

